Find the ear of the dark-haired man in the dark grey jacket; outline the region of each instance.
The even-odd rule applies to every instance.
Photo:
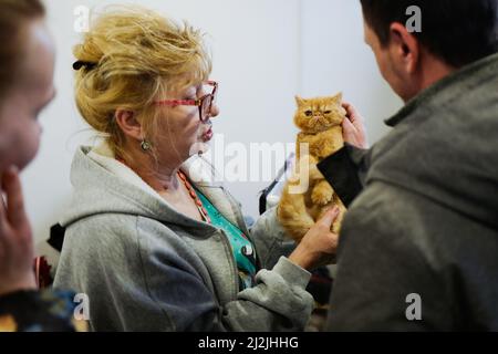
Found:
[[[421,60],[421,44],[416,37],[400,22],[391,23],[390,35],[390,45],[396,62],[403,65],[407,74],[415,73]]]

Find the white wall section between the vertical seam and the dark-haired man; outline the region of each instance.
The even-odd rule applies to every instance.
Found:
[[[343,92],[344,100],[353,103],[365,117],[369,142],[376,142],[387,132],[383,121],[402,102],[382,79],[375,56],[364,42],[360,1],[302,3],[302,94]]]

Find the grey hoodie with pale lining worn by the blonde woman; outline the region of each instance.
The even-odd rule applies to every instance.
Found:
[[[222,186],[196,183],[251,236],[267,268],[256,287],[239,292],[225,231],[177,212],[105,146],[76,152],[71,181],[54,287],[89,295],[93,331],[303,330],[313,306],[304,290],[311,274],[280,257],[286,242],[274,210],[249,232]]]

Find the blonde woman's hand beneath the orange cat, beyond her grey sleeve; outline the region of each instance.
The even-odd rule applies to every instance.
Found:
[[[289,256],[289,260],[307,270],[326,264],[335,254],[339,236],[330,228],[339,216],[339,208],[333,207],[304,235],[301,242]]]

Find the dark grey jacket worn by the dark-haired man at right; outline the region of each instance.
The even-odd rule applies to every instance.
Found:
[[[356,176],[334,176],[344,162],[366,171],[341,232],[328,330],[498,331],[498,54],[387,124],[363,158],[346,147],[320,166],[335,189],[357,189]],[[409,294],[419,321],[406,316]]]

